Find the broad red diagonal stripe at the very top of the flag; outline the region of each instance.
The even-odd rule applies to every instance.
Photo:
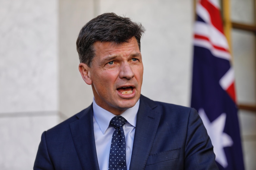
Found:
[[[221,33],[224,33],[219,9],[212,5],[210,2],[208,2],[208,0],[201,0],[200,3],[208,11],[211,17],[212,25],[216,27]]]

